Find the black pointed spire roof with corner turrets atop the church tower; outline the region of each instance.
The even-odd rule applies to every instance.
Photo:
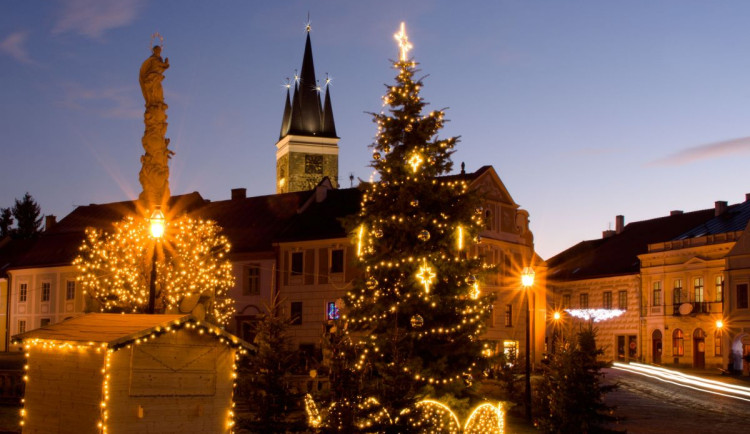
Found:
[[[336,137],[336,128],[333,125],[333,110],[331,109],[329,97],[326,95],[325,112],[320,102],[318,82],[315,79],[315,65],[312,57],[312,44],[310,43],[310,31],[308,28],[307,40],[305,41],[305,54],[302,57],[302,70],[298,83],[294,86],[294,98],[291,101],[291,111],[287,116],[287,106],[284,108],[284,117],[281,121],[281,137],[288,134],[299,136]],[[287,104],[289,104],[287,93]],[[330,118],[330,125],[324,122],[324,113]]]

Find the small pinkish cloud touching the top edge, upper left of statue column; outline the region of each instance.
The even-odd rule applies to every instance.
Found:
[[[142,0],[68,0],[52,33],[75,32],[99,39],[107,30],[133,22],[142,3]]]

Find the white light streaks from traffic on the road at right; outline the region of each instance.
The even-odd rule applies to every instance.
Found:
[[[682,372],[673,371],[671,369],[643,365],[641,363],[627,364],[614,362],[612,367],[614,369],[640,374],[676,386],[750,402],[750,388],[748,387],[708,380],[694,375],[683,374]]]

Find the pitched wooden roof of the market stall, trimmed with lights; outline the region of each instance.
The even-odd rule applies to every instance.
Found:
[[[106,344],[109,348],[127,345],[152,334],[160,334],[167,327],[179,328],[199,322],[191,315],[88,313],[13,336],[13,341],[51,340],[72,343]],[[223,337],[237,346],[253,346],[219,327],[205,322],[200,325],[217,339]]]

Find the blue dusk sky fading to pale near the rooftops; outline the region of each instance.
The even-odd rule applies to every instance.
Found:
[[[456,171],[491,164],[545,259],[614,225],[750,192],[748,1],[0,2],[0,207],[134,199],[151,35],[170,69],[173,194],[274,192],[287,77],[310,14],[339,176],[369,179],[406,22]]]

